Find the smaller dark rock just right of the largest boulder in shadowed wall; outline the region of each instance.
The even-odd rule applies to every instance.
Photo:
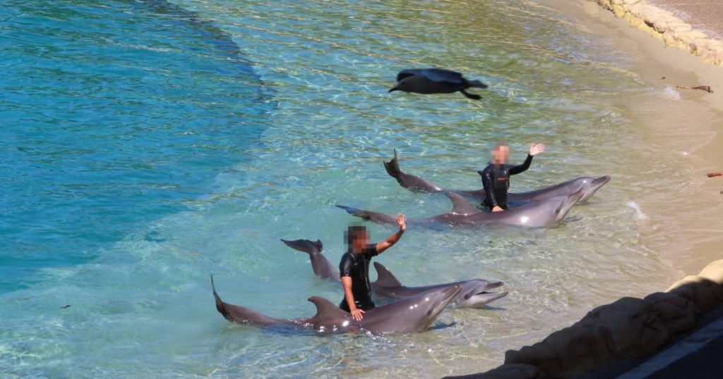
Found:
[[[658,311],[669,334],[687,331],[696,326],[696,305],[685,297],[670,292],[655,292],[643,300]]]

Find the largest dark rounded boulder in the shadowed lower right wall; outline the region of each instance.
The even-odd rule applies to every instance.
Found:
[[[591,310],[582,326],[599,326],[607,332],[607,346],[615,357],[643,357],[662,346],[669,333],[658,311],[648,302],[623,297]]]

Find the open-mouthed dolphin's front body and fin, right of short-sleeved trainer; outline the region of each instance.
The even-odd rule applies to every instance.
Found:
[[[465,280],[463,282],[454,282],[447,284],[437,284],[435,286],[424,287],[405,287],[399,280],[389,271],[382,263],[375,262],[374,268],[377,269],[378,279],[372,282],[372,291],[377,296],[386,297],[388,299],[399,299],[409,296],[418,295],[427,292],[429,289],[436,289],[450,284],[458,284],[462,290],[450,302],[451,308],[482,308],[489,302],[507,296],[508,292],[489,292],[490,289],[501,287],[502,282],[487,282],[483,279]]]

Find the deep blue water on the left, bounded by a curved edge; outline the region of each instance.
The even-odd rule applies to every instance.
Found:
[[[251,160],[275,108],[231,35],[167,1],[11,1],[0,292],[108,251]]]

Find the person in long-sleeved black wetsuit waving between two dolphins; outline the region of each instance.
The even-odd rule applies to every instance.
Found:
[[[505,165],[510,156],[510,147],[507,144],[497,144],[492,150],[492,162],[482,171],[482,187],[484,200],[482,205],[492,212],[502,212],[507,209],[507,191],[510,188],[510,175],[522,173],[530,167],[532,157],[544,152],[544,144],[531,144],[527,159],[521,165]]]

